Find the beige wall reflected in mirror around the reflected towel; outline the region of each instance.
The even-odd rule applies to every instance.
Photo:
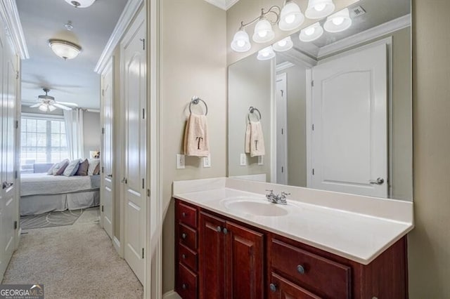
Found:
[[[230,65],[228,72],[228,175],[266,174],[270,182],[271,169],[271,60],[259,61],[256,55]],[[261,112],[264,135],[264,165],[258,165],[258,157],[247,154],[247,166],[240,166],[240,154],[245,153],[245,128],[248,124],[248,109],[255,107]],[[257,115],[257,112],[255,112]],[[256,120],[251,116],[252,121]]]

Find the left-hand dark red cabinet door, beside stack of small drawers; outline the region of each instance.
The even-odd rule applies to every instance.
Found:
[[[224,298],[225,220],[200,213],[200,299]]]

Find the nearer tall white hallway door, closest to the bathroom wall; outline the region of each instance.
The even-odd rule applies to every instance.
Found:
[[[125,114],[124,255],[141,282],[146,244],[146,22],[140,13],[122,42]]]

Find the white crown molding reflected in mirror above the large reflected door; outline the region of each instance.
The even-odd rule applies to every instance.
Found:
[[[336,53],[357,44],[364,43],[365,41],[370,41],[385,34],[390,34],[409,26],[411,26],[411,14],[404,15],[389,22],[385,22],[371,29],[367,29],[366,31],[359,32],[358,34],[354,34],[345,39],[341,39],[340,41],[336,41],[333,44],[323,46],[319,49],[317,58],[321,59],[324,56]]]

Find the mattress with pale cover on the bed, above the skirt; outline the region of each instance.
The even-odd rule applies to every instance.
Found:
[[[20,196],[67,194],[98,190],[100,175],[47,175],[46,173],[23,173],[20,175]]]

